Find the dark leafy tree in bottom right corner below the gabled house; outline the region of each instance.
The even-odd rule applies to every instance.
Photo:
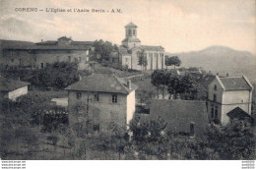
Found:
[[[241,121],[233,121],[225,127],[211,125],[208,132],[208,146],[221,159],[255,159],[255,138],[252,127]]]

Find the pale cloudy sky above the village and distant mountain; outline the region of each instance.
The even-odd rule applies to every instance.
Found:
[[[43,12],[15,12],[15,8]],[[45,8],[121,9],[111,13],[46,13]],[[255,0],[0,0],[0,38],[109,40],[121,44],[124,26],[138,26],[145,45],[168,52],[224,45],[256,53]]]

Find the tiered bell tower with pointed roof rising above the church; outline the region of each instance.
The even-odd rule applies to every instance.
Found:
[[[125,26],[125,39],[122,41],[122,45],[126,46],[128,49],[140,46],[141,40],[137,38],[137,26],[130,23]]]

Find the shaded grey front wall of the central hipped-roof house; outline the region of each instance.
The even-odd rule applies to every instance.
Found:
[[[77,92],[80,91],[69,91],[69,123],[72,125],[76,123],[77,118],[75,117],[74,105],[81,102],[85,107],[87,106],[87,100],[89,95],[89,109],[98,109],[99,111],[99,128],[100,130],[105,129],[110,122],[115,122],[121,127],[126,127],[127,121],[127,95],[117,93],[117,103],[112,102],[112,94],[98,92],[99,100],[95,99],[95,92],[81,91],[82,97],[77,99]],[[82,112],[86,113],[86,109]]]

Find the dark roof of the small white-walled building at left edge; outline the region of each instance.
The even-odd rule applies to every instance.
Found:
[[[29,83],[7,79],[0,75],[0,91],[13,91],[26,85]]]

